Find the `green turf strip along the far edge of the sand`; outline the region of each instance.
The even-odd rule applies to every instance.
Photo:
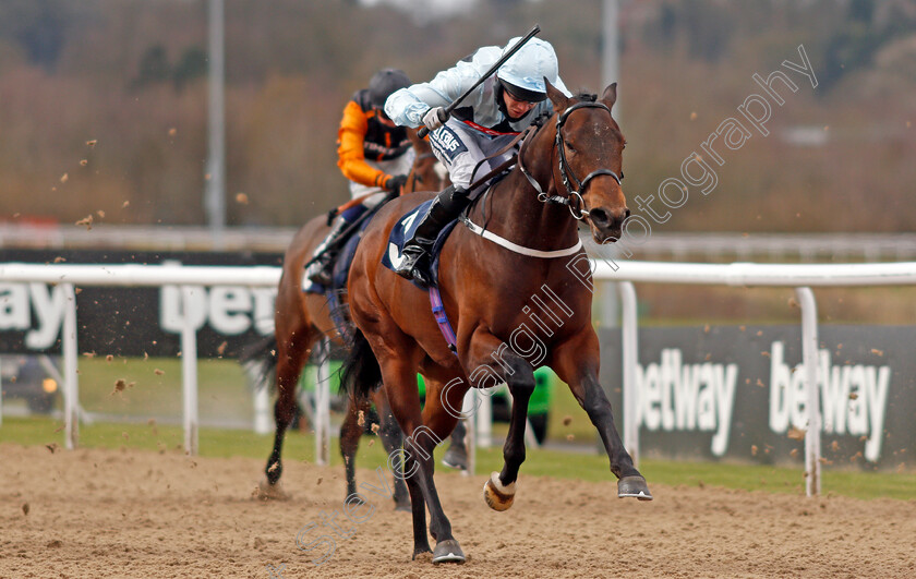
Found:
[[[370,441],[375,441],[370,446]],[[94,448],[136,448],[150,451],[183,453],[183,434],[180,426],[160,424],[107,424],[96,423],[80,429],[80,445]],[[63,446],[62,423],[47,418],[4,418],[0,426],[0,443],[21,445]],[[249,431],[201,429],[200,453],[205,457],[249,457],[266,460],[273,435],[258,435]],[[341,466],[336,439],[333,441],[332,465]],[[437,453],[444,451],[445,444]],[[284,448],[287,461],[314,460],[314,438],[310,434],[291,432]],[[2,458],[2,448],[0,448]],[[384,449],[377,437],[365,436],[357,458],[359,468],[375,469],[386,466]],[[501,448],[478,450],[478,473],[498,471],[503,458]],[[749,491],[766,491],[804,495],[801,469],[770,466],[748,466],[724,462],[679,462],[643,460],[642,473],[653,483],[670,486],[724,486]],[[558,450],[528,450],[521,467],[521,477],[555,477],[606,482],[614,485],[607,468],[607,458],[595,454],[576,454]],[[821,480],[822,493],[856,498],[895,498],[916,500],[916,474],[913,472],[863,472],[824,466]],[[611,486],[615,488],[615,486]]]

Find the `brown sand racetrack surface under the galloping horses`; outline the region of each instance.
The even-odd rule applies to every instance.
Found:
[[[0,577],[916,577],[916,502],[525,477],[506,512],[483,477],[437,477],[469,560],[410,560],[410,516],[382,497],[311,563],[296,535],[338,510],[340,467],[287,458],[287,502],[252,498],[263,462],[0,445]],[[377,475],[359,471],[359,480]],[[377,495],[370,495],[377,496]],[[26,507],[27,505],[27,507]],[[341,527],[350,526],[342,519]],[[322,534],[312,531],[317,539]],[[272,575],[273,572],[273,575]]]

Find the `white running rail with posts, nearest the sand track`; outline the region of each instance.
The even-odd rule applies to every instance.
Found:
[[[801,309],[803,359],[809,399],[818,395],[817,378],[817,304],[810,287],[906,286],[916,285],[916,262],[869,264],[700,264],[668,262],[624,262],[616,264],[592,261],[595,281],[618,282],[623,295],[624,351],[624,444],[632,456],[639,456],[635,414],[638,331],[636,290],[632,282],[699,284],[726,286],[794,287]],[[184,266],[184,265],[69,265],[69,264],[0,264],[0,281],[59,284],[64,287],[67,315],[63,325],[65,444],[74,448],[79,438],[76,301],[74,286],[182,287],[186,300],[195,287],[250,286],[276,287],[280,268],[272,266]],[[583,280],[583,284],[588,280]],[[184,396],[184,447],[197,450],[197,376],[196,335],[189,328],[182,333],[182,388]],[[808,495],[820,491],[819,405],[806,405],[809,427],[806,433],[805,461]]]

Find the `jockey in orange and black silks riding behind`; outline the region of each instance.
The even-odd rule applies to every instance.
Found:
[[[409,85],[403,71],[383,69],[343,108],[337,130],[337,166],[350,180],[351,197],[363,201],[345,210],[315,249],[314,261],[305,269],[305,277],[315,284],[330,285],[332,264],[341,245],[336,243],[339,233],[364,210],[378,205],[385,192],[400,191],[407,181],[415,154],[407,130],[388,119],[383,107],[391,93]]]

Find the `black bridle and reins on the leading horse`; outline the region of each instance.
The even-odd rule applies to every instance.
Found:
[[[559,165],[559,176],[563,180],[563,186],[568,193],[566,196],[547,195],[547,193],[541,188],[541,184],[538,183],[538,181],[531,176],[531,173],[528,172],[528,169],[525,168],[525,164],[522,162],[525,152],[527,150],[527,144],[530,141],[530,137],[537,134],[538,130],[540,130],[540,126],[538,126],[537,129],[529,129],[531,132],[528,135],[526,135],[526,138],[522,141],[521,146],[519,146],[518,152],[518,167],[521,170],[521,173],[531,183],[531,186],[533,186],[534,190],[538,192],[538,201],[540,201],[541,203],[566,205],[567,207],[569,207],[569,213],[572,214],[572,217],[578,220],[581,220],[589,216],[589,212],[586,209],[586,202],[582,198],[582,195],[584,195],[586,188],[592,179],[602,174],[608,174],[612,178],[614,178],[614,181],[616,181],[618,185],[620,185],[620,181],[624,178],[623,172],[618,177],[617,173],[615,173],[611,169],[595,169],[594,171],[587,174],[583,180],[580,181],[579,178],[576,177],[576,173],[572,171],[572,168],[569,167],[569,162],[566,160],[566,141],[564,141],[563,138],[563,125],[566,123],[566,119],[569,118],[569,114],[571,114],[572,111],[584,108],[604,109],[607,111],[608,116],[611,114],[611,109],[603,102],[592,102],[590,100],[587,100],[582,102],[576,102],[571,107],[564,110],[562,114],[557,116],[555,146],[558,153],[557,161]],[[572,189],[570,178],[571,182],[576,183],[576,189]]]

